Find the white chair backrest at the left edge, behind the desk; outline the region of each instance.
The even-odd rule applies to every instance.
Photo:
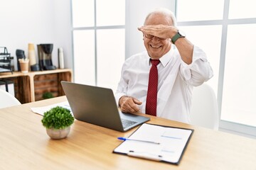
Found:
[[[0,89],[0,108],[7,108],[20,104],[21,102],[19,102],[17,98],[9,94],[7,91]]]

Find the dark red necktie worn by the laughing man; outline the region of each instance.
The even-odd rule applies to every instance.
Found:
[[[158,85],[158,72],[157,64],[159,60],[151,60],[151,69],[149,72],[149,86],[146,96],[146,114],[156,116],[156,102],[157,102],[157,85]]]

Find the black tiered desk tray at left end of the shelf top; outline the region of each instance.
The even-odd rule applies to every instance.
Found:
[[[13,60],[14,57],[11,57],[6,47],[0,47],[0,49],[3,49],[3,51],[0,52],[0,72],[11,72],[12,74],[11,60]]]

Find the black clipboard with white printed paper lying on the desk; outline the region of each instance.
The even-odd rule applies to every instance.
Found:
[[[179,164],[192,134],[192,129],[144,123],[129,138],[122,137],[124,142],[113,152]]]

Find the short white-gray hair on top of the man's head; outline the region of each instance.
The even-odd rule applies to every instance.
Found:
[[[166,18],[171,19],[173,26],[177,26],[176,17],[174,16],[174,13],[168,8],[156,8],[154,9],[154,11],[151,11],[145,18],[144,26],[146,25],[146,21],[148,20],[149,16],[156,13],[163,14],[164,16],[166,16]]]

